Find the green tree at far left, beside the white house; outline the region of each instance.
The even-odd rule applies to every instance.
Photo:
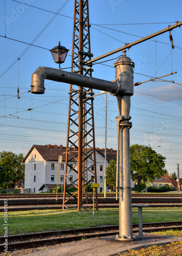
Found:
[[[23,154],[16,155],[11,151],[0,152],[0,186],[14,187],[15,184],[24,184]]]

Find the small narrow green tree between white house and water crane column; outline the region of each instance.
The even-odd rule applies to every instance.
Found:
[[[116,161],[113,159],[106,168],[106,185],[108,188],[116,190]]]

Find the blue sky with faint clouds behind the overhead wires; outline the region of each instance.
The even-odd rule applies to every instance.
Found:
[[[53,19],[54,12],[61,7],[61,15]],[[26,155],[33,144],[66,145],[69,86],[46,80],[44,95],[28,91],[32,73],[39,66],[58,68],[48,51],[57,46],[58,41],[70,49],[71,55],[73,12],[74,0],[0,1],[0,151]],[[180,22],[182,2],[90,0],[89,13],[91,52],[97,57],[173,25],[176,20]],[[181,29],[171,32],[173,50],[167,32],[126,52],[135,62],[134,82],[177,72],[165,77],[165,81],[150,81],[135,87],[131,98],[131,144],[150,144],[166,157],[169,173],[176,172],[177,163],[182,169]],[[29,45],[25,43],[35,46],[27,49]],[[108,66],[94,65],[92,76],[115,79],[114,62],[121,54],[102,59],[107,60]],[[71,57],[67,56],[61,67],[70,66]],[[169,82],[171,80],[174,83]],[[17,98],[18,86],[20,99]],[[106,96],[101,95],[94,100],[96,146],[100,148],[105,147],[105,99]],[[30,108],[33,111],[28,111]],[[108,148],[116,148],[117,115],[116,99],[108,95]]]

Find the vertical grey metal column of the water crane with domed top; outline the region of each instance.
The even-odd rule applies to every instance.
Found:
[[[132,122],[129,120],[131,96],[134,94],[133,74],[134,62],[128,58],[123,50],[123,55],[115,63],[116,80],[121,84],[122,94],[116,95],[119,116],[116,118],[118,126],[117,150],[120,152],[119,161],[119,236],[116,240],[133,240],[132,225],[132,195],[131,195],[131,168],[130,168],[130,143],[129,129]]]

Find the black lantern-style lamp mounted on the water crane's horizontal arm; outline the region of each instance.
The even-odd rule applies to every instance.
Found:
[[[66,49],[64,46],[60,45],[60,41],[58,46],[50,50],[51,54],[53,55],[55,63],[59,63],[59,69],[60,69],[60,64],[65,61],[68,51],[69,50]]]

